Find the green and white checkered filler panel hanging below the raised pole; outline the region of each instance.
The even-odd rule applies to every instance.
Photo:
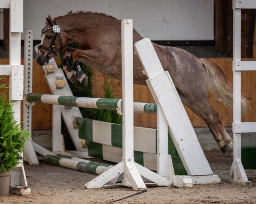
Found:
[[[122,158],[122,125],[86,118],[77,118],[79,138],[85,139],[89,156],[106,161],[120,162]],[[186,175],[172,139],[168,138],[175,174]],[[135,162],[150,170],[157,170],[157,130],[134,127]]]

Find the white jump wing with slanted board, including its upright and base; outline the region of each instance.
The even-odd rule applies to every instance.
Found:
[[[161,110],[157,116],[160,113],[164,116],[162,119],[157,118],[157,125],[161,120],[166,120],[172,141],[189,175],[176,176],[173,172],[171,157],[169,157],[169,162],[166,163],[166,165],[169,163],[169,179],[173,182],[173,185],[178,187],[192,187],[194,183],[219,183],[221,180],[212,173],[172,78],[168,71],[163,70],[151,40],[144,38],[136,42],[134,46],[148,76],[146,82],[151,94],[155,102],[159,104],[157,111]],[[163,128],[160,131],[166,134],[166,125],[162,122],[159,126]],[[164,136],[162,136],[162,139],[158,139],[158,142],[160,142],[158,145],[161,148],[159,151],[166,152],[163,141],[166,141]],[[165,154],[163,155],[168,156],[168,152]],[[164,167],[163,162],[166,162],[166,160],[166,157],[158,159],[158,171],[164,176],[166,175],[166,167]]]

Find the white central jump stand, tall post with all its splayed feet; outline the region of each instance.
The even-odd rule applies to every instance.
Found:
[[[134,162],[134,111],[133,111],[133,25],[131,19],[122,20],[122,161],[84,185],[87,189],[100,188],[123,174],[122,185],[133,190],[146,188],[142,176],[157,185],[171,181]],[[111,182],[112,183],[112,182]]]

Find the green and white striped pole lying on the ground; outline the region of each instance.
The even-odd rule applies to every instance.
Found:
[[[99,162],[79,159],[76,157],[62,154],[57,154],[56,156],[47,154],[44,156],[44,161],[56,166],[66,167],[69,169],[92,173],[96,175],[100,175],[113,167],[108,164],[102,164]]]

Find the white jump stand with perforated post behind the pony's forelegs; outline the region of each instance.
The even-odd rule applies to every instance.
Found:
[[[32,92],[32,77],[33,77],[33,30],[25,29],[24,31],[24,94]],[[35,46],[35,51],[38,51],[37,46]],[[47,73],[47,65],[43,65],[44,77],[48,84],[48,87],[52,94],[64,95],[64,96],[73,96],[73,93],[67,83],[67,79],[64,76],[62,69],[58,68],[55,59],[52,58],[49,60],[49,65],[55,67],[55,72],[49,74]],[[56,88],[55,81],[60,77],[63,79],[66,86],[63,88]],[[32,105],[34,103],[25,102],[23,103],[23,129],[32,131]],[[52,152],[55,153],[64,153],[64,139],[61,134],[61,116],[66,124],[67,130],[70,134],[70,137],[73,141],[73,144],[76,150],[72,150],[70,153],[74,156],[80,158],[89,158],[87,148],[82,146],[81,139],[79,139],[78,128],[73,127],[73,120],[76,117],[82,117],[81,112],[78,107],[67,108],[63,105],[52,105]],[[50,151],[46,150],[44,147],[36,144],[35,142],[30,142],[32,150],[42,155],[52,154]],[[25,161],[28,161],[30,165],[38,165],[36,163],[37,157],[32,153],[32,151],[25,152],[24,157]]]

